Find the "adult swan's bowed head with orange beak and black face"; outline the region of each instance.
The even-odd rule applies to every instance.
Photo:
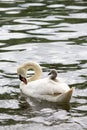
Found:
[[[22,67],[19,67],[17,69],[17,74],[19,76],[19,79],[24,83],[24,84],[27,84],[27,73],[26,73],[26,70]]]

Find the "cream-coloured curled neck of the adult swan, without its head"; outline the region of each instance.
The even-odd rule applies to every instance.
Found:
[[[25,70],[25,73],[27,73],[27,71],[29,69],[33,69],[35,71],[35,74],[29,78],[27,78],[27,81],[33,81],[33,80],[37,80],[41,78],[41,74],[42,74],[42,69],[39,66],[39,64],[34,63],[34,62],[27,62],[25,64],[22,65],[22,69]]]

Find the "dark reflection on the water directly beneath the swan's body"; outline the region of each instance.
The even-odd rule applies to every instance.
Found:
[[[66,111],[69,111],[71,106],[70,103],[54,103],[54,102],[48,102],[45,100],[37,100],[32,97],[26,97],[25,95],[21,95],[19,98],[19,106],[22,109],[28,109],[31,108],[32,110],[35,111],[40,111],[41,109],[44,108],[51,108],[51,109],[63,109]]]

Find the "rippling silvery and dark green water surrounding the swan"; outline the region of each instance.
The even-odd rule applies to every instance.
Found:
[[[0,130],[87,129],[86,5],[86,0],[0,0]],[[21,97],[16,69],[28,60],[42,66],[43,77],[55,68],[75,87],[70,104],[32,107]]]

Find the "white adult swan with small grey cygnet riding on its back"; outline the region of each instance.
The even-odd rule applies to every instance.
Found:
[[[27,78],[27,70],[33,69],[35,74]],[[21,91],[30,97],[50,102],[69,102],[72,96],[73,88],[57,77],[56,70],[52,70],[47,78],[41,79],[42,69],[36,62],[27,62],[17,69],[19,79],[21,80]]]

